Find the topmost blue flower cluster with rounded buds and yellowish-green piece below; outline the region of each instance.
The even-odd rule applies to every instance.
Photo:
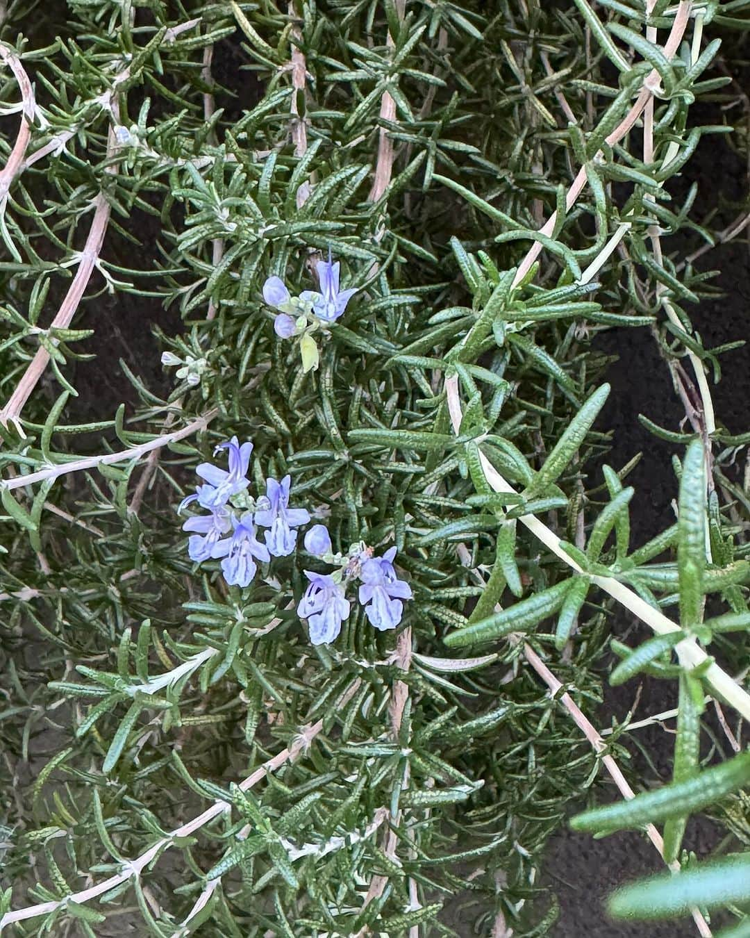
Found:
[[[317,266],[320,292],[303,290],[299,296],[290,294],[279,277],[269,277],[263,284],[263,299],[275,310],[279,310],[274,321],[274,330],[280,339],[300,337],[300,354],[304,371],[318,367],[320,356],[314,333],[335,323],[343,315],[347,303],[357,292],[355,287],[339,290],[340,265],[333,264],[331,253],[328,260]]]

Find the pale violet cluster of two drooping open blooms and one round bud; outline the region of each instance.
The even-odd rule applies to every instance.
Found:
[[[336,640],[352,608],[351,600],[346,598],[347,584],[357,580],[359,602],[365,607],[370,625],[381,631],[398,626],[403,615],[402,600],[412,598],[412,588],[398,579],[393,566],[395,547],[382,557],[372,556],[372,549],[364,543],[354,544],[346,555],[334,554],[328,531],[323,524],[315,524],[305,535],[305,549],[338,567],[334,573],[305,570],[309,585],[297,613],[308,620],[310,642],[323,644]]]

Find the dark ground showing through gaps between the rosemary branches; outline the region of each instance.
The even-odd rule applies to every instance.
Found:
[[[223,46],[223,43],[222,43]],[[214,70],[233,71],[238,63],[233,50],[217,54]],[[219,81],[229,75],[218,75]],[[247,102],[249,104],[249,101]],[[236,102],[235,102],[236,106]],[[724,116],[716,106],[700,105],[696,108],[696,123],[718,124]],[[695,157],[688,163],[682,180],[670,182],[670,190],[677,201],[689,186],[697,181],[699,192],[692,217],[706,218],[715,209],[727,223],[734,218],[747,201],[747,169],[744,159],[735,153],[727,139],[719,136],[704,138]],[[679,189],[683,188],[680,192]],[[141,223],[143,222],[143,224]],[[715,220],[713,227],[717,225]],[[153,246],[157,229],[154,219],[143,216],[139,220],[138,234],[143,240],[143,265],[153,263]],[[743,240],[744,238],[744,240]],[[697,247],[695,240],[665,239],[668,253],[682,256]],[[139,266],[138,252],[132,246],[119,244],[124,256],[117,256],[117,247],[108,243],[105,255],[115,263]],[[723,295],[704,300],[690,311],[697,330],[706,347],[711,348],[730,340],[745,339],[750,307],[750,248],[745,232],[738,240],[712,250],[697,262],[703,270],[718,269],[714,283]],[[181,331],[176,310],[163,310],[158,299],[119,293],[99,295],[94,301],[84,302],[82,314],[77,318],[79,328],[96,327],[97,357],[79,366],[76,386],[80,397],[68,404],[69,422],[94,419],[113,414],[121,401],[133,401],[134,392],[119,367],[123,358],[140,375],[146,386],[166,390],[170,377],[165,376],[159,363],[151,325],[158,325],[168,334]],[[618,356],[607,375],[613,393],[607,410],[600,418],[602,429],[613,431],[612,450],[607,455],[609,464],[620,467],[638,452],[643,456],[628,477],[635,486],[632,503],[632,542],[639,545],[674,521],[671,501],[677,486],[671,468],[671,456],[677,446],[667,444],[646,431],[637,415],[645,414],[669,429],[676,430],[684,416],[682,404],[671,386],[667,366],[659,356],[657,345],[648,329],[613,329],[600,335],[597,346],[607,355]],[[730,352],[722,358],[723,378],[713,390],[716,415],[720,423],[733,433],[747,431],[747,405],[750,401],[750,346]],[[90,412],[90,402],[97,401],[97,414]],[[80,413],[77,413],[77,408]],[[612,620],[613,632],[621,639],[636,643],[647,637],[627,614],[618,613]],[[632,706],[637,692],[637,681],[622,688],[607,688],[607,695],[598,715],[598,726],[611,725],[612,718],[619,721]],[[667,710],[676,704],[676,687],[671,682],[649,680],[641,688],[635,719]],[[637,739],[649,753],[646,759],[637,745],[631,747],[631,765],[644,781],[667,779],[671,766],[672,736],[659,726],[636,730]],[[598,792],[602,802],[613,800],[613,786],[604,786]],[[571,813],[579,806],[571,805]],[[697,855],[706,855],[715,844],[716,829],[708,820],[692,821],[685,844]],[[573,938],[589,935],[593,938],[682,938],[695,935],[692,921],[680,923],[612,923],[604,915],[602,903],[617,885],[636,879],[645,873],[663,869],[658,855],[645,837],[639,833],[623,833],[605,840],[592,840],[588,835],[561,832],[549,844],[544,882],[558,895],[561,915],[551,931],[553,938]],[[467,931],[467,935],[469,932]]]

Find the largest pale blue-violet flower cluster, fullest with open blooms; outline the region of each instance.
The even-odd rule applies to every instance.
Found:
[[[183,499],[178,510],[197,502],[208,511],[183,524],[183,530],[192,532],[188,538],[190,560],[200,564],[220,558],[224,579],[231,585],[248,586],[258,569],[255,561],[267,564],[272,556],[292,553],[297,540],[295,529],[307,524],[310,516],[305,508],[289,507],[289,476],[280,482],[267,478],[265,495],[253,501],[247,493],[252,444],[240,446],[233,436],[228,443],[219,444],[216,452],[222,449],[229,450],[229,469],[202,462],[195,471],[205,484]],[[258,525],[267,529],[264,544],[256,536]]]

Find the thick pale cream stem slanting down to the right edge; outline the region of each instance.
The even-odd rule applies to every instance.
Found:
[[[458,376],[452,375],[445,380],[445,391],[447,394],[448,411],[451,417],[451,423],[454,431],[458,435],[461,425],[461,403],[458,396]],[[479,450],[479,459],[482,471],[487,477],[488,484],[495,492],[516,492],[505,479],[500,475],[497,469],[488,460],[485,454]],[[585,574],[585,571],[578,566],[577,562],[562,547],[560,537],[554,531],[547,527],[544,522],[540,522],[535,515],[523,515],[518,519],[527,527],[534,537],[553,552],[556,556],[567,564],[568,567],[577,573]],[[613,599],[616,599],[625,609],[637,615],[639,619],[646,623],[657,635],[664,635],[667,632],[679,632],[681,628],[658,609],[654,609],[641,599],[637,593],[634,593],[629,587],[615,580],[613,577],[603,577],[591,574],[585,574],[589,580],[600,589],[604,590]],[[678,658],[685,668],[696,668],[698,665],[705,666],[703,676],[707,684],[713,688],[714,692],[730,703],[744,719],[750,719],[750,694],[740,687],[725,671],[723,671],[714,661],[709,663],[709,657],[698,647],[696,640],[692,637],[682,639],[682,642],[675,646]]]

